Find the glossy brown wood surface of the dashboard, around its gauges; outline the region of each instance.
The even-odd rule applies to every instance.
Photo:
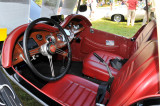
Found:
[[[75,28],[75,26],[80,25],[79,28]],[[85,28],[83,26],[81,26],[81,23],[76,22],[76,21],[71,21],[70,23],[68,23],[68,25],[65,27],[66,29],[70,30],[71,33],[73,34],[73,36],[68,36],[69,41],[72,41],[74,36],[83,31]],[[50,33],[48,31],[35,31],[32,32],[30,34],[30,38],[33,38],[34,41],[38,44],[37,48],[34,48],[32,50],[30,50],[30,55],[33,56],[37,53],[39,53],[39,49],[41,47],[41,45],[45,44],[47,42],[46,40],[46,36],[50,35],[50,36],[54,36],[54,38],[56,39],[56,47],[57,48],[62,48],[66,45],[66,42],[60,41],[57,37],[57,34],[60,32],[54,32],[54,33]],[[36,35],[42,35],[42,40],[38,40]],[[12,64],[16,65],[20,62],[23,61],[24,57],[24,53],[23,53],[23,48],[19,45],[19,42],[23,40],[23,35],[18,39],[18,41],[16,42],[15,48],[14,48],[14,52],[13,52],[13,58],[12,58]]]

